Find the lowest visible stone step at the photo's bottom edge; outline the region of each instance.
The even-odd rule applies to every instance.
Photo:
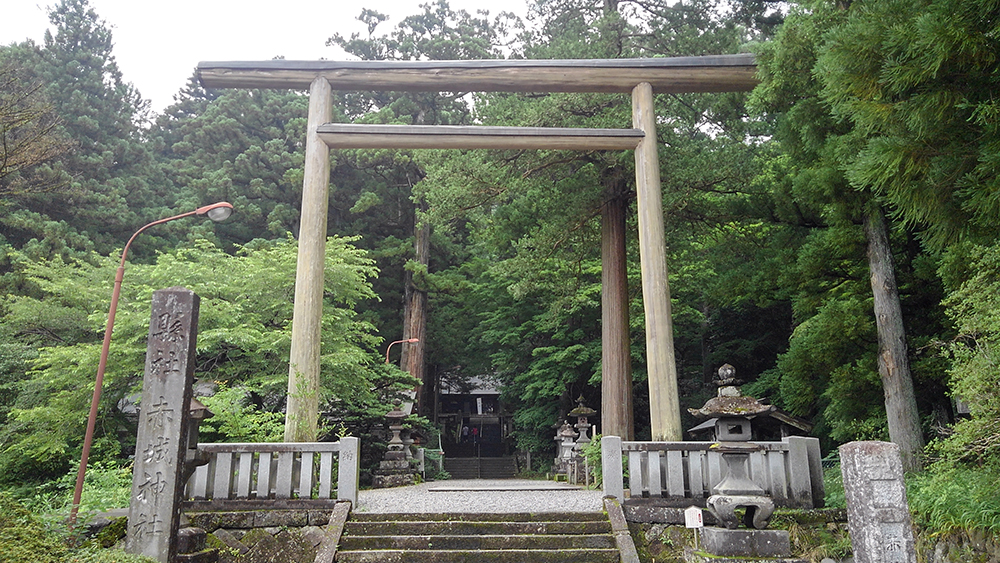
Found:
[[[338,551],[337,561],[379,563],[620,563],[617,549]]]

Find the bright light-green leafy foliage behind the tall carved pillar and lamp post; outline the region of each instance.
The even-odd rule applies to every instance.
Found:
[[[39,350],[28,373],[30,379],[19,384],[14,408],[0,427],[2,482],[55,478],[66,472],[77,455],[92,392],[87,382],[96,372],[100,351],[96,335],[104,323],[104,299],[110,295],[114,278],[112,258],[92,260],[21,263],[25,277],[38,285],[45,298],[14,298],[9,315],[12,325],[38,323],[49,333],[58,333],[59,326],[45,324],[75,315],[86,319],[84,328],[92,331],[92,336],[73,345]],[[290,239],[248,246],[236,256],[200,241],[160,255],[156,264],[132,265],[119,302],[98,438],[105,434],[117,437],[119,432],[134,435],[121,406],[122,399],[135,393],[141,382],[150,295],[155,288],[175,285],[201,296],[197,377],[252,389],[260,403],[257,410],[265,411],[258,420],[273,423],[287,385],[282,365],[288,357],[295,260],[296,244]],[[377,361],[373,355],[377,339],[370,334],[370,325],[359,321],[349,308],[374,297],[367,282],[374,273],[371,261],[349,240],[328,241],[321,358],[324,398],[353,396],[362,403],[378,400],[372,393],[357,391],[373,387],[377,372],[370,366]],[[43,303],[59,314],[37,315]],[[226,402],[235,402],[232,393],[219,399],[220,404]],[[220,427],[226,422],[230,426],[220,428],[220,433],[271,435],[266,427],[249,429],[238,424],[239,413],[222,410]],[[127,441],[120,449],[125,446]],[[109,452],[110,457],[118,451]]]

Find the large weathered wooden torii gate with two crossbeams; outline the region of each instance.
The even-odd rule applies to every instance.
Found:
[[[607,60],[202,62],[197,73],[206,88],[309,91],[288,412],[311,414],[305,417],[308,420],[293,420],[286,426],[286,440],[314,440],[316,435],[331,148],[635,150],[652,438],[681,439],[653,93],[750,90],[757,84],[752,54]],[[335,124],[330,123],[333,90],[626,93],[632,95],[632,128]],[[607,354],[611,344],[607,333],[604,340]],[[631,413],[631,382],[624,374],[604,379],[605,433],[630,429],[631,422],[620,419]],[[623,397],[629,401],[627,410],[621,404]]]

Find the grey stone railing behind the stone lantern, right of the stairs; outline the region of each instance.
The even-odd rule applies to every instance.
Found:
[[[712,495],[724,475],[715,442],[624,442],[601,439],[604,494],[625,500],[623,458],[628,459],[629,498],[690,500]],[[750,478],[771,495],[777,506],[823,506],[823,467],[818,438],[790,436],[780,442],[753,442]]]

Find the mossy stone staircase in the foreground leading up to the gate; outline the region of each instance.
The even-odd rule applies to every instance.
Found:
[[[619,563],[607,515],[353,512],[338,562]]]

